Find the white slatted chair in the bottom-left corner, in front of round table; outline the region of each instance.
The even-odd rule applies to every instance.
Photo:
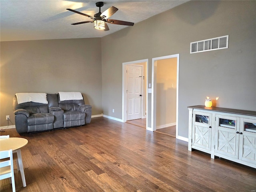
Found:
[[[0,151],[0,159],[4,159],[4,161],[0,162],[0,180],[11,178],[12,192],[15,192],[12,150]]]

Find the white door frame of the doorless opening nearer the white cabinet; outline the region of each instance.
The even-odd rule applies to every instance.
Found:
[[[177,58],[177,85],[176,85],[176,138],[178,138],[178,103],[179,103],[179,63],[180,54],[152,58],[152,98],[151,98],[151,130],[156,130],[156,70],[157,61]]]

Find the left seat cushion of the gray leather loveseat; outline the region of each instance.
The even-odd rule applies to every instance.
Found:
[[[28,118],[28,126],[50,124],[54,122],[54,115],[50,113],[35,113]]]

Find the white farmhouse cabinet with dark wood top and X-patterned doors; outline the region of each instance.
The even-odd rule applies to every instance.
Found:
[[[188,150],[256,168],[256,111],[189,106]]]

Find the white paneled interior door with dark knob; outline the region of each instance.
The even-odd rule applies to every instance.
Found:
[[[127,117],[126,120],[142,117],[142,67],[126,66],[127,73]]]

